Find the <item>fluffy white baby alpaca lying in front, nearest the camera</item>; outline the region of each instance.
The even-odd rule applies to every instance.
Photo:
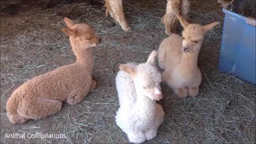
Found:
[[[163,122],[164,111],[156,100],[162,99],[161,74],[156,69],[153,51],[146,63],[120,65],[116,89],[120,108],[116,124],[127,134],[129,141],[142,143],[156,137]]]

